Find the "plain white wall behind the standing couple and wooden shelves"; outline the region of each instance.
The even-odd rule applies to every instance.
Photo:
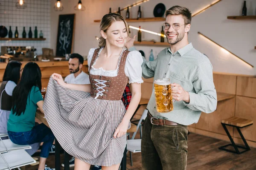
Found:
[[[51,7],[51,46],[56,48],[57,26],[59,14],[76,13],[76,26],[73,52],[81,55],[87,55],[90,48],[97,47],[98,43],[95,36],[99,37],[99,23],[93,23],[93,20],[101,19],[108,13],[109,7],[112,12],[118,7],[121,8],[131,5],[138,0],[82,0],[85,11],[75,11],[73,8],[78,0],[61,0],[64,10],[56,12],[53,10],[55,0],[52,0]],[[166,9],[180,5],[185,6],[192,11],[192,14],[204,8],[215,0],[150,0],[141,4],[143,17],[154,17],[153,9],[157,3],[164,3]],[[256,67],[256,20],[227,20],[227,16],[241,15],[243,0],[222,0],[214,6],[208,8],[201,14],[192,18],[191,31],[189,32],[189,41],[194,47],[206,54],[212,62],[213,71],[227,72],[235,74],[255,75],[256,68],[244,64],[232,54],[223,51],[219,46],[205,39],[198,34],[198,31],[205,34],[210,39],[227,48],[237,56]],[[136,17],[138,6],[130,9],[131,17]],[[125,16],[125,11],[122,11]],[[256,15],[256,0],[247,0],[247,15]],[[160,32],[160,22],[141,22],[129,23],[131,26],[141,26],[144,29]],[[131,36],[137,34],[136,30],[131,29]],[[143,40],[160,41],[159,36],[143,33]],[[145,47],[137,46],[138,50],[143,50],[146,57],[149,56],[150,49],[153,49],[154,55],[160,52],[163,47]]]

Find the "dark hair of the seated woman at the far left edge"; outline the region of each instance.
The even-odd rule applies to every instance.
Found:
[[[6,69],[3,74],[3,82],[13,81],[17,85],[18,82],[20,81],[20,67],[21,67],[21,62],[10,61],[6,65]]]

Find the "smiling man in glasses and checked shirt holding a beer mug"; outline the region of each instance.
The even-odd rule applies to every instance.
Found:
[[[170,47],[163,49],[152,62],[143,57],[143,77],[169,78],[172,98],[176,101],[173,111],[158,113],[153,89],[143,127],[143,170],[186,170],[187,125],[197,123],[201,111],[212,113],[217,106],[212,65],[188,42],[189,9],[173,6],[165,14],[163,28]],[[136,50],[132,47],[134,40],[135,36],[126,42],[129,51]]]

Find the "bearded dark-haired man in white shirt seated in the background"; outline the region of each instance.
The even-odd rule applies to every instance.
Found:
[[[73,53],[68,61],[70,74],[65,78],[65,82],[70,84],[90,84],[89,75],[82,71],[84,58],[80,54]]]

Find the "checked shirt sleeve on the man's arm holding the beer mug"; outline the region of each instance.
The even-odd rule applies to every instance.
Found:
[[[213,83],[211,63],[200,63],[196,73],[193,80],[195,93],[189,92],[189,103],[184,101],[183,103],[194,111],[212,113],[217,107],[217,93]]]

